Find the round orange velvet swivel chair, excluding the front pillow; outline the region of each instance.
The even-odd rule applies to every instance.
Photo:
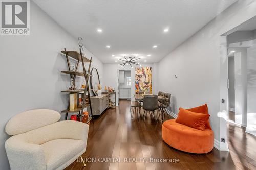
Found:
[[[207,104],[187,110],[208,114]],[[214,147],[214,132],[209,120],[204,131],[179,124],[176,119],[166,120],[162,125],[162,138],[170,147],[189,153],[208,153]]]

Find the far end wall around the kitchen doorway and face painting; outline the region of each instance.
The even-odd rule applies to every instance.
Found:
[[[154,76],[155,74],[155,64],[143,64],[142,67],[152,67],[152,91],[153,93],[155,92],[155,83],[157,83],[156,77]],[[117,96],[117,86],[118,86],[118,70],[131,70],[131,77],[132,77],[132,90],[131,90],[131,99],[134,100],[134,94],[135,94],[135,69],[131,68],[131,66],[118,66],[118,64],[104,64],[103,65],[103,86],[109,86],[112,87],[116,90],[116,96]],[[116,97],[116,102],[117,102],[117,97]]]

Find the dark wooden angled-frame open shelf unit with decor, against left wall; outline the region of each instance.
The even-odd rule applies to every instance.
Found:
[[[62,54],[65,54],[66,59],[67,59],[67,63],[68,63],[68,71],[61,71],[63,74],[68,74],[70,75],[70,80],[71,80],[71,84],[74,87],[75,86],[75,79],[77,76],[81,76],[84,77],[85,80],[85,87],[84,89],[67,89],[67,90],[62,90],[61,92],[63,93],[69,93],[70,95],[70,103],[68,106],[68,109],[63,110],[63,113],[66,113],[66,120],[68,118],[68,114],[69,113],[79,113],[77,115],[77,120],[80,120],[80,122],[83,122],[84,120],[84,116],[83,112],[84,112],[84,108],[90,107],[90,111],[91,111],[91,115],[90,117],[87,118],[87,121],[84,123],[89,124],[90,121],[92,120],[93,122],[93,112],[92,112],[92,105],[91,105],[91,98],[90,98],[90,89],[89,89],[89,85],[88,85],[88,80],[89,77],[91,77],[91,75],[89,75],[90,69],[91,69],[91,63],[92,63],[92,57],[89,60],[88,58],[84,57],[84,55],[82,54],[82,48],[80,46],[80,52],[78,53],[77,51],[67,51],[66,48],[61,51]],[[71,65],[70,65],[70,58],[77,60],[76,66],[75,68],[73,68],[73,70],[71,70]],[[82,72],[77,71],[79,64],[82,64]],[[88,66],[88,70],[86,70],[86,66],[84,65],[84,63],[89,63]],[[82,118],[80,118],[82,117]]]

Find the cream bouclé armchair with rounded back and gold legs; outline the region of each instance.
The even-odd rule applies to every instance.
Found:
[[[37,109],[9,120],[5,130],[12,137],[5,148],[11,169],[64,169],[86,151],[89,126],[59,119],[56,111]]]

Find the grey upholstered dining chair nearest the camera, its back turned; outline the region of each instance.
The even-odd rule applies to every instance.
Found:
[[[148,112],[150,112],[151,117],[155,118],[157,121],[157,117],[155,116],[155,110],[158,109],[157,101],[158,101],[157,95],[144,95],[144,98],[143,98],[144,122]]]

